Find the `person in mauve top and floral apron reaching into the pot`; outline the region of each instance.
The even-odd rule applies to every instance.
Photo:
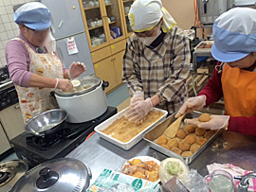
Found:
[[[38,113],[58,108],[54,89],[72,90],[69,79],[75,79],[85,70],[82,62],[73,62],[69,70],[54,52],[50,40],[50,12],[39,2],[27,3],[17,9],[14,21],[20,35],[6,46],[10,79],[19,96],[24,121]]]

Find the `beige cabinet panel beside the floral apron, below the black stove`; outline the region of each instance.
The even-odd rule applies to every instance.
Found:
[[[25,131],[24,121],[18,103],[1,111],[0,121],[9,140]]]

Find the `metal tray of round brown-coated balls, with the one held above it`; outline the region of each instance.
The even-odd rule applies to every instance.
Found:
[[[186,114],[183,118],[195,118],[199,120],[209,121],[208,113],[192,112]],[[187,165],[201,153],[205,148],[208,148],[220,131],[211,131],[200,129],[197,126],[186,125],[182,121],[175,137],[170,139],[164,135],[164,131],[174,122],[174,115],[169,116],[165,121],[161,122],[154,129],[147,131],[143,139],[149,142],[151,148],[155,148],[163,154],[184,159]]]

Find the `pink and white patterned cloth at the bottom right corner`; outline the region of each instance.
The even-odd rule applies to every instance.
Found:
[[[234,166],[231,164],[211,164],[207,166],[209,174],[211,174],[214,170],[216,169],[221,169],[229,172],[229,174],[234,176],[243,176],[246,175],[247,173],[250,173],[252,171],[250,170],[244,170],[243,168],[239,166]],[[233,180],[233,183],[235,183],[236,187],[238,187],[239,181],[238,180]],[[248,191],[251,192],[256,192],[256,179],[250,179],[249,180],[249,186],[248,186]]]

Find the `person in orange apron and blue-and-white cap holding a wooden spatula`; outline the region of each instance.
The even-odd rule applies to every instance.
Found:
[[[225,114],[185,122],[199,128],[256,135],[256,10],[235,8],[223,13],[213,25],[212,56],[221,61],[203,90],[188,98],[175,117],[208,106],[224,97]]]

